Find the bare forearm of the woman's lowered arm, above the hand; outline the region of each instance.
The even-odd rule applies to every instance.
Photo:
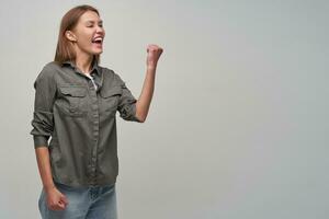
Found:
[[[43,186],[46,191],[49,191],[55,187],[50,169],[49,150],[47,147],[38,147],[35,149],[35,154]]]

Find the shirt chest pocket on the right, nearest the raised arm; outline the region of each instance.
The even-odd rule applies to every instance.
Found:
[[[102,89],[100,91],[101,95],[101,111],[102,112],[110,112],[115,113],[120,97],[122,95],[122,88],[121,85],[115,85],[110,89]]]

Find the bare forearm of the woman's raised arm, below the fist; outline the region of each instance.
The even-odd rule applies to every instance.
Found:
[[[156,69],[157,69],[156,65],[147,66],[146,77],[144,80],[141,93],[136,103],[136,116],[141,122],[145,122],[147,117],[151,99],[154,95]]]

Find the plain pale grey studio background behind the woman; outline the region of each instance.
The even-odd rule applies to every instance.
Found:
[[[120,218],[329,217],[328,1],[1,3],[0,218],[39,218],[33,82],[80,3],[136,97],[147,44],[164,49],[146,123],[117,114]]]

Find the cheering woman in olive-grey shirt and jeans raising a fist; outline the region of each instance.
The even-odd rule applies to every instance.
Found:
[[[115,114],[137,123],[148,114],[162,48],[148,45],[146,78],[136,100],[117,73],[99,66],[102,23],[91,5],[69,10],[61,19],[55,60],[34,82],[31,135],[43,183],[38,208],[44,219],[117,217]]]

